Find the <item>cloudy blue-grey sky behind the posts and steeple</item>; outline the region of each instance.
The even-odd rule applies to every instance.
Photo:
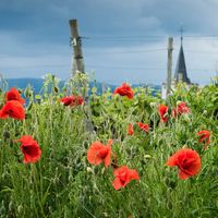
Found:
[[[187,76],[205,85],[218,73],[217,0],[0,0],[0,73],[5,78],[71,75],[69,20],[76,19],[90,80],[161,84],[181,26]]]

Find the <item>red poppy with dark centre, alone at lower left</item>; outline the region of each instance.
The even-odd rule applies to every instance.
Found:
[[[40,159],[41,150],[37,142],[31,135],[24,135],[15,142],[21,142],[21,152],[24,155],[24,164],[36,162]]]

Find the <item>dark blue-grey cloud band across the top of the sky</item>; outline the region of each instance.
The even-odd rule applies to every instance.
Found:
[[[89,34],[178,33],[181,22],[187,32],[215,32],[217,7],[216,0],[1,0],[0,24],[12,31],[58,31],[63,21],[68,25],[69,19],[77,17]]]

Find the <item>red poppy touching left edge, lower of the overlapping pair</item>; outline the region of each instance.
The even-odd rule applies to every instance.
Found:
[[[0,110],[0,118],[5,119],[8,117],[14,118],[16,120],[25,119],[25,110],[20,101],[10,100],[5,102],[5,105]]]

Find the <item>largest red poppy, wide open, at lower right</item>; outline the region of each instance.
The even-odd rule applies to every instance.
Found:
[[[181,148],[172,155],[167,166],[179,168],[179,178],[185,180],[189,177],[195,175],[201,169],[201,158],[197,152],[190,148]]]

